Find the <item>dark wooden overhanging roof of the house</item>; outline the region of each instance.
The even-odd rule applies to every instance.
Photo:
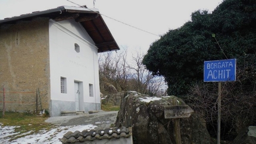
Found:
[[[5,18],[4,20],[0,20],[0,26],[3,24],[15,24],[20,20],[32,20],[36,17],[48,17],[55,21],[74,19],[85,28],[93,42],[95,42],[98,52],[115,51],[120,49],[101,17],[101,14],[99,14],[98,9],[61,6],[51,10],[35,11],[30,14]]]

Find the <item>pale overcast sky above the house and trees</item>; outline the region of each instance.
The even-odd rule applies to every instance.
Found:
[[[126,48],[128,55],[139,51],[146,54],[151,43],[160,39],[161,35],[190,21],[192,12],[211,12],[222,1],[94,0],[93,4],[93,0],[0,0],[0,20],[63,5],[86,5],[88,8],[97,8],[103,14],[102,17],[120,49]]]

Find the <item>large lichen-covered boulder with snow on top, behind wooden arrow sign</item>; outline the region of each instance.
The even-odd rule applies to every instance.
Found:
[[[121,99],[115,126],[132,126],[135,144],[176,143],[173,119],[164,117],[164,106],[172,105],[173,99],[178,100],[180,105],[185,104],[176,96],[154,98],[138,92],[127,92]],[[210,144],[210,135],[199,115],[192,114],[179,120],[182,143]]]

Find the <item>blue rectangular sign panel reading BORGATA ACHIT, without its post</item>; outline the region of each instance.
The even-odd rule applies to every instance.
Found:
[[[204,61],[204,82],[236,81],[236,59]]]

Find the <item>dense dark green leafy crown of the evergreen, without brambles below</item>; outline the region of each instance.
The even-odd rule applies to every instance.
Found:
[[[169,95],[186,95],[192,83],[202,82],[204,61],[255,57],[255,0],[226,0],[211,14],[193,12],[191,20],[152,43],[143,58],[149,71],[165,77]],[[237,67],[243,62],[238,61]]]

